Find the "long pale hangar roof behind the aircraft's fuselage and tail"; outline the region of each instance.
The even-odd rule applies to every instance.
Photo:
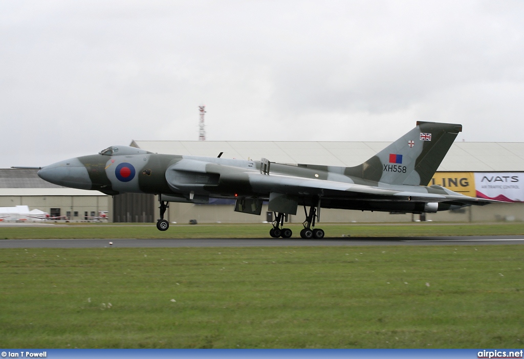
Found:
[[[132,141],[147,151],[194,156],[308,163],[351,167],[359,165],[391,142],[285,141]],[[454,142],[438,171],[524,171],[524,142]]]

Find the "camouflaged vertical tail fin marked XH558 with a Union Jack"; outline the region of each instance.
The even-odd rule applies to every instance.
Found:
[[[344,173],[374,182],[425,186],[461,131],[462,125],[417,121],[417,127]]]

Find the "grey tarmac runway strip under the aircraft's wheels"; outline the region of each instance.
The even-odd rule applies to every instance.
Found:
[[[110,245],[109,242],[113,244]],[[522,235],[471,237],[384,237],[305,239],[12,239],[1,248],[161,248],[161,247],[277,247],[356,245],[500,245],[524,244]]]

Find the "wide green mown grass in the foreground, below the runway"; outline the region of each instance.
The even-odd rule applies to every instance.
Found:
[[[2,249],[0,346],[522,348],[522,268],[518,245]]]

